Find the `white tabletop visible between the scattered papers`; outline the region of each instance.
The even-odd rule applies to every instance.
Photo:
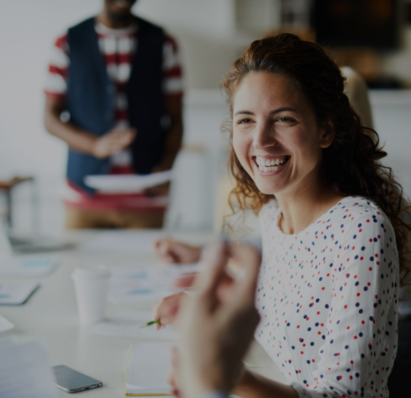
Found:
[[[90,232],[79,232],[71,233],[70,236],[71,239],[79,241],[92,235],[93,233]],[[190,233],[177,238],[185,238],[189,243],[204,243],[207,235]],[[131,255],[85,254],[76,250],[61,252],[59,259],[59,267],[51,275],[35,280],[41,287],[34,292],[26,304],[0,306],[0,314],[16,325],[13,330],[1,333],[0,337],[16,335],[20,341],[44,340],[51,365],[65,364],[103,382],[103,387],[79,394],[85,394],[88,398],[124,397],[127,353],[130,343],[138,339],[87,334],[87,327],[79,325],[71,273],[80,264],[104,263],[112,267],[147,265],[155,263],[156,260],[150,255],[137,258]],[[109,302],[107,316],[124,309],[148,310],[151,306],[152,303],[149,302],[127,305],[115,305]],[[253,367],[254,372],[284,382],[279,369],[257,342],[253,342],[252,349],[245,360],[250,364],[265,366]],[[58,392],[57,396],[67,397],[66,393],[60,390]]]

